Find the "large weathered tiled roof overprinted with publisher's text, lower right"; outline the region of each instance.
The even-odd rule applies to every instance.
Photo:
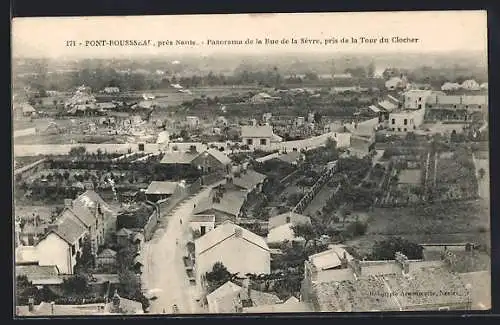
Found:
[[[451,306],[467,302],[464,281],[445,267],[420,265],[410,267],[410,272],[403,275],[393,261],[385,264],[380,261],[378,265],[393,266],[393,269],[365,265],[357,280],[313,284],[321,311],[424,310],[427,305]]]

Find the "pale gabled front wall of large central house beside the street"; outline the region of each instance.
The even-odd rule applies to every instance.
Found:
[[[268,250],[233,236],[196,256],[196,283],[200,283],[201,276],[211,271],[216,262],[222,262],[231,273],[269,274],[271,272],[270,258]]]

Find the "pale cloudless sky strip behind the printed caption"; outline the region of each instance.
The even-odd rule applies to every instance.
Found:
[[[119,57],[141,54],[205,55],[280,53],[280,51],[441,52],[487,49],[486,11],[428,11],[372,13],[301,13],[262,15],[183,15],[128,17],[15,18],[12,49],[15,57]],[[388,44],[330,44],[335,37],[386,37]],[[418,38],[417,43],[391,43],[391,38]],[[208,46],[207,40],[319,39],[319,45]],[[85,47],[86,40],[151,40],[147,47]],[[82,46],[66,47],[67,40]],[[163,40],[193,40],[195,46],[163,46]]]

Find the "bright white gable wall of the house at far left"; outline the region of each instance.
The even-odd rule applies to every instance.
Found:
[[[71,248],[59,236],[49,234],[36,247],[41,266],[57,265],[60,273],[73,274],[73,265],[76,263],[76,259],[72,258],[72,261],[70,261],[69,254]]]

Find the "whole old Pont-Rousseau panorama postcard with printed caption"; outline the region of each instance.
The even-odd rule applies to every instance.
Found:
[[[11,38],[16,318],[491,309],[486,11]]]

